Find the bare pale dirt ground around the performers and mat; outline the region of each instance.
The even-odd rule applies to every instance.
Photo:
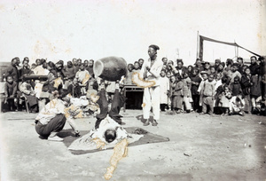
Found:
[[[129,146],[111,180],[265,180],[266,117],[161,113],[143,126],[141,110],[122,113],[123,127],[137,126],[170,141]],[[74,155],[62,142],[35,132],[36,114],[1,114],[1,180],[105,180],[113,150]],[[77,119],[90,130],[96,119]],[[70,129],[66,123],[65,129]]]

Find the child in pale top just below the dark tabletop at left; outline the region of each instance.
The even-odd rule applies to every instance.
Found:
[[[22,96],[24,96],[27,99],[29,112],[36,113],[38,106],[38,99],[35,97],[35,91],[30,84],[30,80],[23,81],[23,83],[21,83],[20,91],[22,93]]]

